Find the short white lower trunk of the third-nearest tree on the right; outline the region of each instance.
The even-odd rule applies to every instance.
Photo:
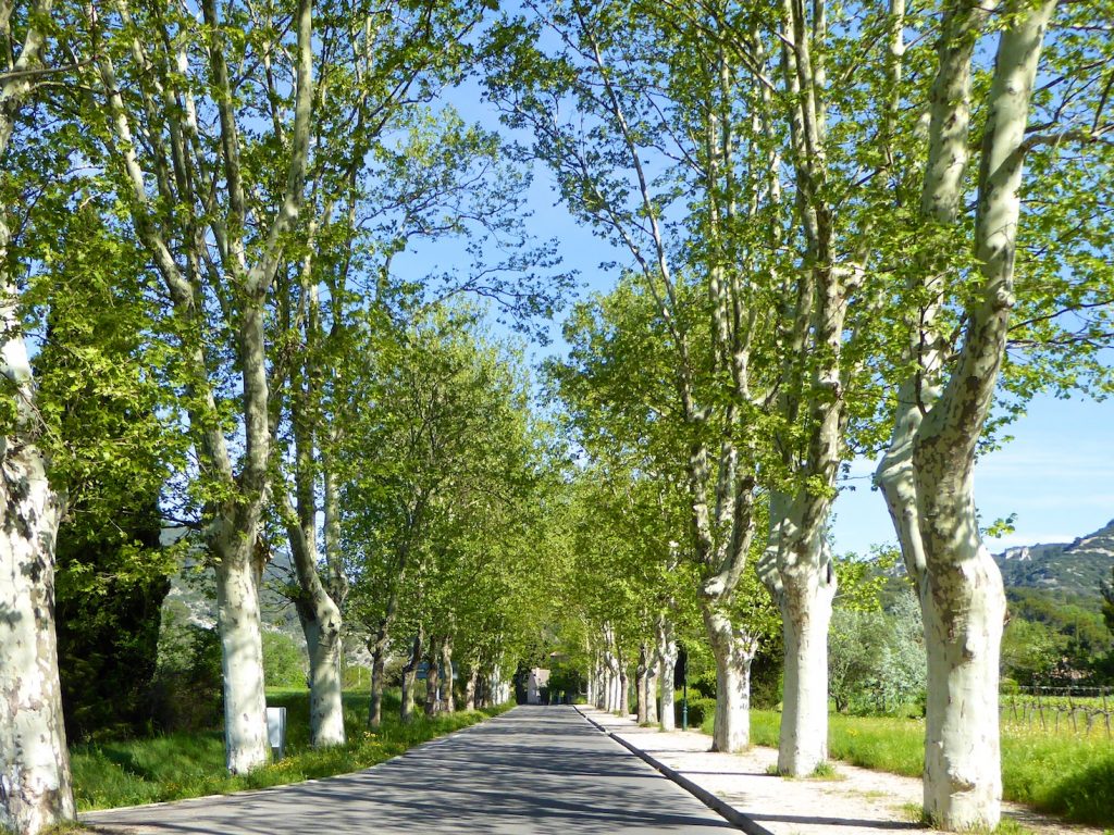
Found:
[[[758,641],[722,612],[702,607],[715,657],[715,725],[712,750],[733,754],[751,741],[751,661]]]

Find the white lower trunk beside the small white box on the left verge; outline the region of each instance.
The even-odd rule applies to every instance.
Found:
[[[252,530],[254,532],[254,527]],[[217,542],[216,599],[224,674],[225,765],[231,774],[247,774],[265,765],[271,757],[263,692],[257,574],[251,560],[254,537],[251,543],[245,543],[242,537],[229,531]]]

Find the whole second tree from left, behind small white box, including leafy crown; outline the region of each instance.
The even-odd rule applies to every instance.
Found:
[[[289,10],[289,28],[277,26],[277,8],[256,19],[250,8],[206,0],[201,12],[198,20],[184,7],[133,11],[120,3],[100,19],[90,8],[96,78],[86,117],[176,323],[198,459],[195,495],[216,563],[226,765],[238,774],[270,756],[257,588],[272,472],[265,318],[304,199],[313,6],[300,0]],[[284,61],[281,92],[245,86],[246,67],[273,59]],[[271,170],[261,171],[254,157],[264,143],[242,125],[260,105],[253,95],[277,97],[290,114],[271,126],[284,164],[265,185],[255,177]]]

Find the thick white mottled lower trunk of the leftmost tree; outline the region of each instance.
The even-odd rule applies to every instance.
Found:
[[[14,341],[9,377],[12,352],[26,360]],[[38,833],[75,816],[53,621],[58,500],[32,443],[4,438],[0,456],[0,828]]]

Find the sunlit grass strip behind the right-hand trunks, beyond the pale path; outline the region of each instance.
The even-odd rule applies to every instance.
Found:
[[[751,711],[751,740],[778,745],[781,715]],[[711,717],[701,729],[712,731]],[[829,717],[828,752],[863,768],[920,777],[925,723],[883,717]],[[1054,736],[1006,726],[1001,735],[1003,796],[1069,821],[1114,826],[1114,745],[1105,737]]]

